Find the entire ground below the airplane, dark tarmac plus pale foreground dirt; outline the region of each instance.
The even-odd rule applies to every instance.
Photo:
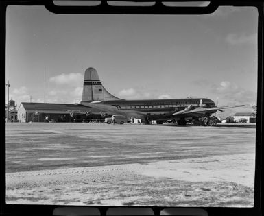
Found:
[[[252,206],[255,131],[223,125],[10,123],[7,201]]]

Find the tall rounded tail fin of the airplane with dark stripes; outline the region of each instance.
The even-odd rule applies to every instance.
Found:
[[[97,71],[89,67],[84,74],[84,88],[82,90],[82,101],[113,101],[121,100],[106,91],[101,84]]]

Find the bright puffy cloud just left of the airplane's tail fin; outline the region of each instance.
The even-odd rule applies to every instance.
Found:
[[[82,80],[84,79],[81,73],[69,73],[69,74],[60,74],[55,77],[50,77],[49,82],[53,82],[55,84],[67,84],[71,86],[80,86]]]

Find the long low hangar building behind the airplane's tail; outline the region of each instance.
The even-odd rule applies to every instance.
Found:
[[[91,113],[87,113],[91,111]],[[81,104],[47,104],[22,102],[17,110],[20,122],[82,122],[93,119],[104,121],[99,110]]]

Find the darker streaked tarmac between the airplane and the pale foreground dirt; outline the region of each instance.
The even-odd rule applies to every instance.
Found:
[[[254,141],[254,128],[10,123],[6,125],[6,171],[254,153]]]

